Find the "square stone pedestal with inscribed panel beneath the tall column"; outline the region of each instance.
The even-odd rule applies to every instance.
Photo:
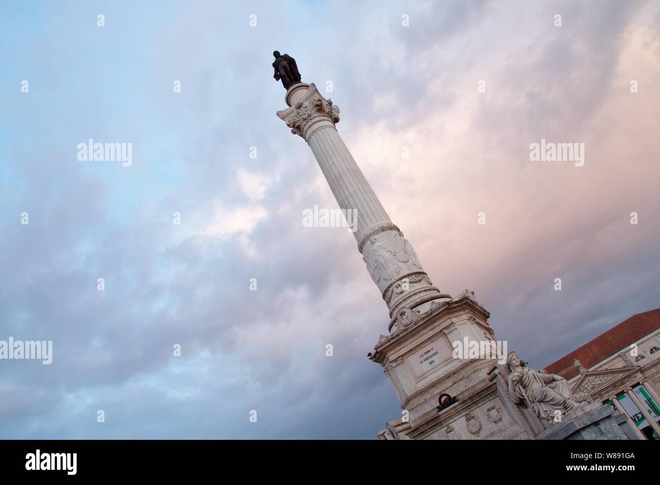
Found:
[[[495,341],[489,316],[468,290],[448,302],[403,309],[369,356],[391,380],[402,419],[409,416],[388,423],[381,439],[529,439],[489,380],[497,361],[453,356],[452,342]],[[456,402],[438,412],[444,394]]]

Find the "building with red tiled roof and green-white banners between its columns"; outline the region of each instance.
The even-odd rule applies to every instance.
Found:
[[[640,437],[659,439],[660,308],[632,315],[545,371],[628,414]]]

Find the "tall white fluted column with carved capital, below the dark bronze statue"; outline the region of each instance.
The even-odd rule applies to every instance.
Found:
[[[397,311],[447,298],[420,265],[413,247],[392,223],[369,182],[339,136],[339,108],[316,86],[300,82],[286,91],[290,108],[277,115],[312,148],[339,207],[354,214],[353,233],[362,259],[389,308]]]

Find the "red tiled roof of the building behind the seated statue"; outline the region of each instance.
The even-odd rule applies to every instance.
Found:
[[[546,366],[545,370],[548,373],[570,379],[579,373],[574,364],[575,359],[578,359],[580,364],[588,369],[658,328],[660,328],[660,308],[632,315],[616,327],[612,327],[570,354],[552,362]]]

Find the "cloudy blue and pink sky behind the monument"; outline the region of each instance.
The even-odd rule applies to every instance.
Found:
[[[530,366],[660,306],[657,1],[3,1],[0,340],[53,356],[0,360],[0,438],[375,439],[401,416],[354,237],[302,224],[337,203],[275,114],[275,49],[434,285]],[[79,160],[88,139],[130,166]],[[583,166],[530,160],[542,139]]]

